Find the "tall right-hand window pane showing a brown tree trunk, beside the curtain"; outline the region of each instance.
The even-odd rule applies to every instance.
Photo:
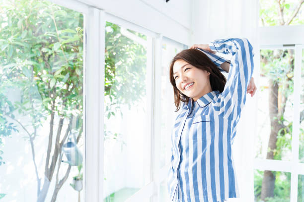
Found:
[[[256,158],[291,160],[294,50],[260,50]]]

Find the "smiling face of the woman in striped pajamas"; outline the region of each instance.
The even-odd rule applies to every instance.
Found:
[[[176,60],[173,65],[177,89],[194,101],[212,91],[209,75],[210,72],[196,68],[184,60]]]

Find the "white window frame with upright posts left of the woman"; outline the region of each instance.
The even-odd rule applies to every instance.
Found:
[[[151,110],[150,131],[151,131],[151,183],[144,186],[127,201],[150,200],[158,202],[160,183],[166,178],[166,166],[159,169],[159,151],[155,150],[155,144],[160,141],[160,91],[161,91],[161,45],[162,35],[147,30],[135,23],[126,21],[114,16],[99,8],[94,4],[86,4],[77,0],[49,0],[58,5],[81,12],[84,15],[84,40],[83,58],[85,58],[83,73],[83,123],[85,131],[85,166],[84,166],[84,201],[101,202],[103,201],[103,133],[104,133],[104,48],[105,48],[105,22],[109,21],[128,29],[146,34],[152,38],[152,50],[147,51],[148,62],[153,78],[147,80],[147,88],[150,96]],[[168,38],[165,41],[177,43]],[[149,42],[148,42],[149,43]],[[178,43],[177,43],[178,44]],[[150,63],[150,64],[148,64]],[[89,79],[86,79],[89,78]],[[97,109],[97,110],[96,110]],[[156,121],[155,121],[156,120]],[[82,199],[83,200],[83,199]]]

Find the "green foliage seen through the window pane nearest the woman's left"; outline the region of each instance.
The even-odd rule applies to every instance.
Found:
[[[108,119],[121,112],[122,105],[133,105],[143,101],[146,95],[147,48],[124,36],[121,27],[106,22],[105,27],[105,115]],[[134,37],[147,40],[147,36],[127,30]],[[144,110],[144,109],[143,109]],[[122,134],[106,130],[104,139],[122,141]]]

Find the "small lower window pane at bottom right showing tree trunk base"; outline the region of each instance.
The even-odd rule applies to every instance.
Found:
[[[291,173],[254,170],[255,202],[290,202]]]

